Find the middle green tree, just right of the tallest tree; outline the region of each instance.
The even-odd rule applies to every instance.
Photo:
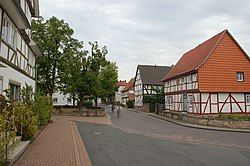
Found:
[[[93,77],[89,71],[88,51],[82,49],[82,42],[71,41],[67,45],[65,55],[58,66],[59,89],[64,94],[70,93],[73,99],[78,97],[79,109],[82,109],[84,99],[90,94]],[[74,103],[74,101],[73,101]]]

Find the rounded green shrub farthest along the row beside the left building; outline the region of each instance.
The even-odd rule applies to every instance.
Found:
[[[35,96],[35,102],[32,110],[38,118],[37,122],[39,126],[47,124],[51,118],[53,110],[51,98],[37,94]]]

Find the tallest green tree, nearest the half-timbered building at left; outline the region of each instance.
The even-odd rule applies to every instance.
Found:
[[[43,56],[37,57],[37,84],[40,91],[52,96],[57,78],[60,58],[67,51],[67,44],[72,41],[74,31],[64,20],[52,17],[32,22],[32,38],[38,44]]]

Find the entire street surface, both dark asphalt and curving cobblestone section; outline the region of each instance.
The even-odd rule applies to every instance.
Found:
[[[250,163],[248,133],[187,128],[126,110],[110,118],[113,125],[77,122],[94,166]]]

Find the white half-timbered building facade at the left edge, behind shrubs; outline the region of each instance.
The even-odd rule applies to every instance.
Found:
[[[42,53],[31,39],[32,17],[39,17],[38,0],[0,1],[0,94],[10,89],[15,100],[25,83],[35,91],[35,58]]]

